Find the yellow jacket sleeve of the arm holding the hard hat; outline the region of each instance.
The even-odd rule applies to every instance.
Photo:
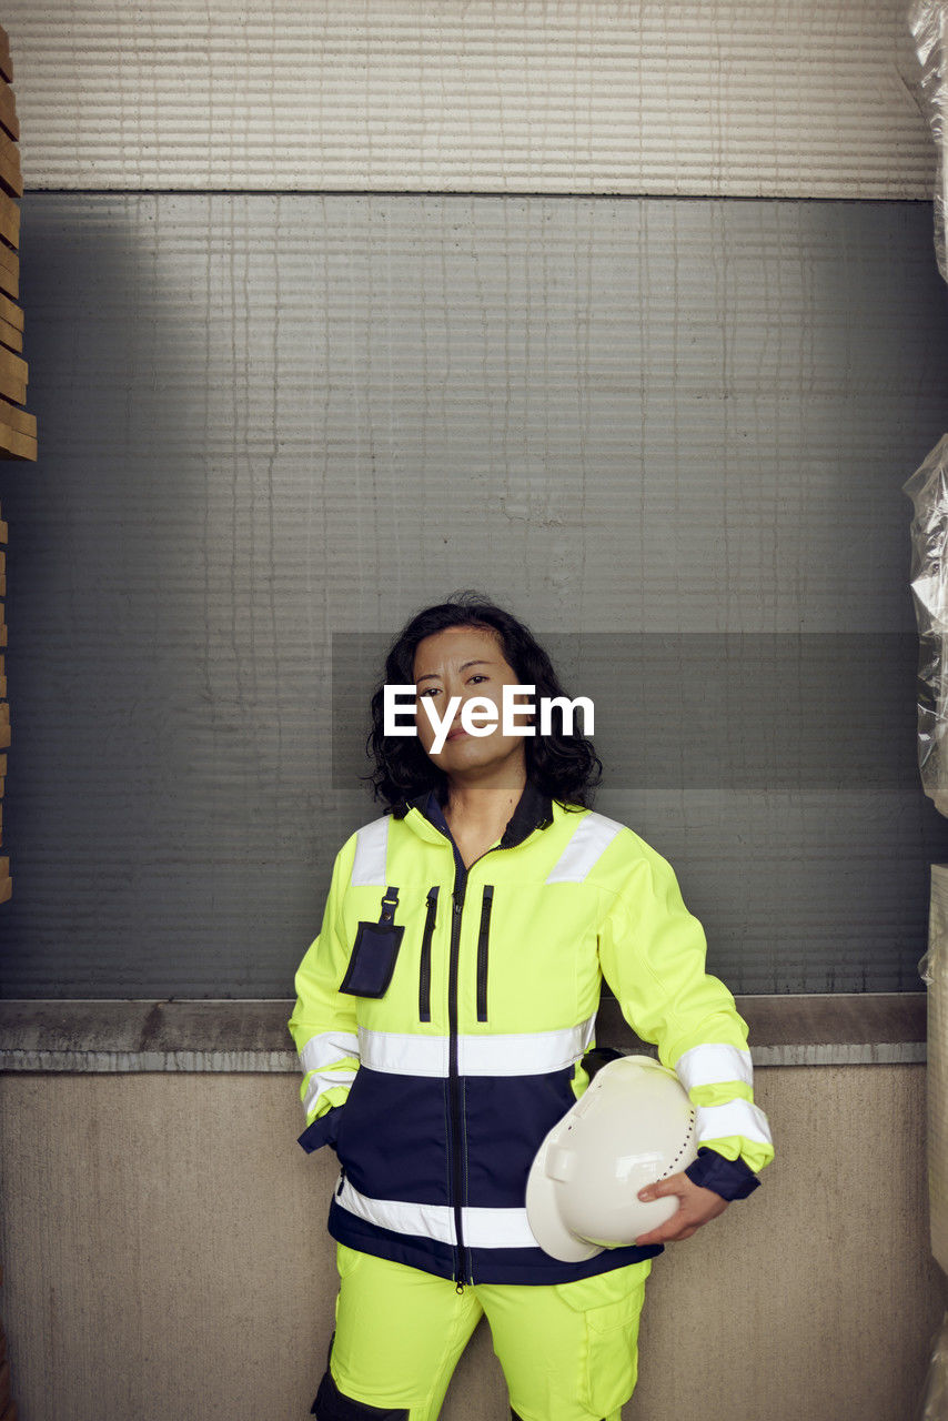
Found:
[[[723,1198],[743,1198],[773,1158],[767,1118],[753,1103],[746,1023],[723,982],[705,972],[705,932],[671,864],[631,830],[618,840],[625,858],[607,891],[603,975],[628,1025],[658,1046],[695,1107],[701,1154],[685,1172]]]

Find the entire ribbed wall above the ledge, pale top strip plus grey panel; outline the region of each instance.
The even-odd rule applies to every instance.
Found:
[[[375,813],[333,639],[452,588],[540,632],[912,634],[930,207],[787,200],[928,196],[901,0],[4,20],[47,421],[4,476],[4,995],[284,995]],[[810,760],[830,733],[792,652],[772,764],[787,718]],[[905,658],[870,659],[905,693],[864,784],[644,783],[605,698],[600,807],[672,860],[736,990],[918,986],[945,834]]]

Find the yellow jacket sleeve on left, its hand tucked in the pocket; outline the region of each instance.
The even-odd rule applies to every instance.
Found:
[[[358,1070],[355,999],[338,990],[348,962],[343,898],[354,854],[355,836],[335,860],[320,935],[296,973],[297,996],[289,1027],[303,1070],[300,1100],[306,1130],[300,1144],[307,1152],[335,1144],[340,1107]]]

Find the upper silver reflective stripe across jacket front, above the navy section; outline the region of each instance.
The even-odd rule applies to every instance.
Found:
[[[573,1066],[593,1040],[596,1017],[557,1032],[517,1036],[459,1036],[460,1076],[544,1076]],[[358,1054],[370,1070],[391,1076],[448,1077],[446,1036],[415,1036],[358,1029]]]

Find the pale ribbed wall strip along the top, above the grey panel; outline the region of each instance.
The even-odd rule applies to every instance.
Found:
[[[33,188],[928,198],[904,0],[7,0]]]

